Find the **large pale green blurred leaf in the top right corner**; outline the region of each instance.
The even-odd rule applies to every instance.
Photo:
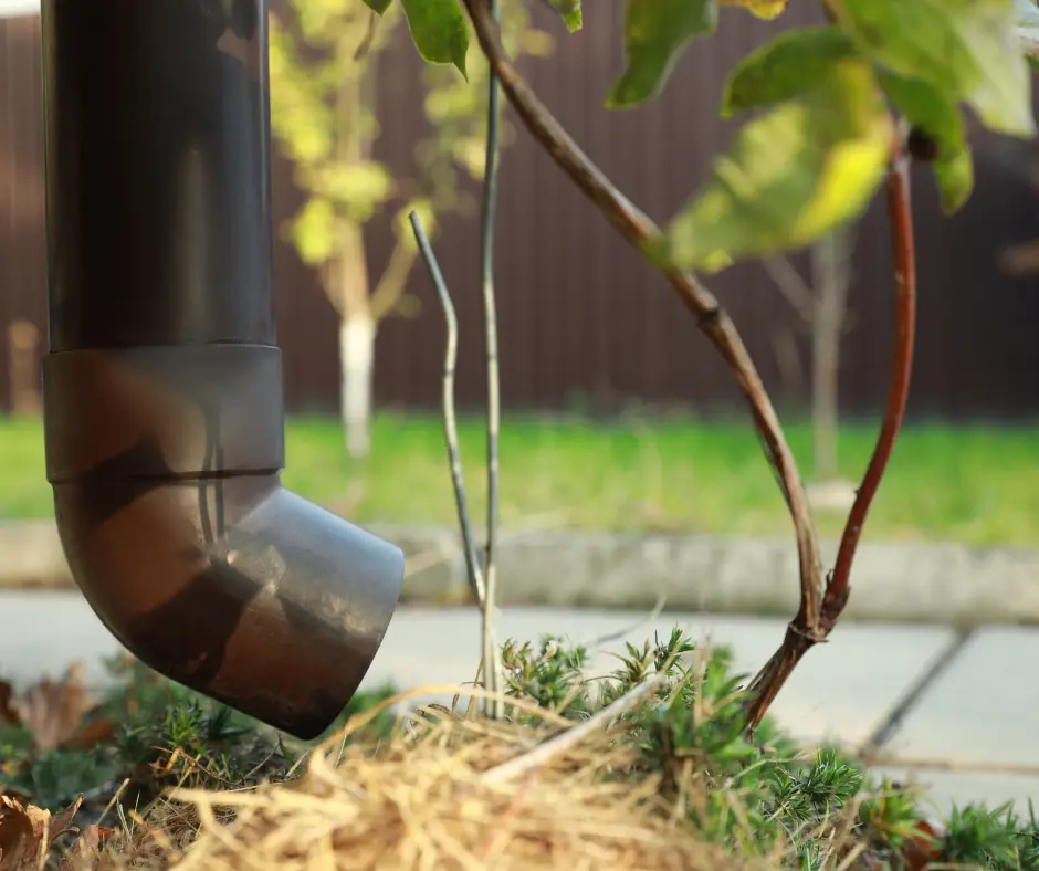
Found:
[[[970,104],[997,133],[1035,135],[1014,0],[836,0],[835,9],[881,66]]]

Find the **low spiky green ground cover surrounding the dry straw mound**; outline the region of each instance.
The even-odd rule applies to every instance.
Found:
[[[1021,815],[1008,806],[967,805],[940,818],[915,786],[874,777],[836,748],[802,751],[767,717],[748,738],[746,675],[733,672],[730,651],[697,649],[678,629],[641,647],[620,648],[618,668],[609,675],[589,675],[588,650],[562,636],[545,636],[536,644],[506,641],[503,654],[507,699],[529,703],[525,710],[507,709],[511,727],[542,742],[546,731],[556,741],[567,734],[556,725],[559,717],[588,723],[641,691],[638,703],[611,717],[605,733],[613,751],[625,752],[626,764],[596,776],[649,784],[700,842],[727,857],[732,864],[720,868],[758,860],[797,869],[841,861],[862,869],[922,868],[925,861],[998,871],[1039,868],[1039,822],[1030,808]],[[193,695],[139,662],[114,660],[109,669],[116,683],[97,703],[88,701],[74,670],[65,680],[21,693],[6,688],[0,796],[55,816],[82,800],[77,826],[99,825],[113,849],[135,843],[146,867],[171,861],[168,854],[156,859],[138,832],[148,820],[168,822],[171,788],[263,791],[280,788],[265,784],[287,784],[312,790],[308,755],[319,753],[323,741],[335,742],[351,720],[369,717],[339,741],[337,756],[359,753],[372,759],[380,747],[400,742],[420,747],[427,733],[445,725],[479,731],[483,722],[476,706],[466,714],[464,697],[452,710],[430,705],[406,714],[407,704],[387,710],[396,696],[386,686],[358,694],[322,739],[303,744]],[[49,702],[32,707],[30,700],[44,695]],[[70,711],[78,716],[70,717]],[[192,826],[201,823],[191,818]],[[55,856],[66,841],[55,841]]]

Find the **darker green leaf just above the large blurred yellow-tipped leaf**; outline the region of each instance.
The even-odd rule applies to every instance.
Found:
[[[744,57],[730,74],[722,95],[722,117],[793,99],[815,87],[835,63],[854,54],[854,43],[840,28],[784,31]]]

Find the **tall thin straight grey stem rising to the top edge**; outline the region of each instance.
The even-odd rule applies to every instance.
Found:
[[[501,19],[498,0],[489,0],[491,17]],[[491,67],[487,90],[487,146],[483,177],[483,214],[480,240],[480,271],[483,291],[483,322],[487,354],[487,545],[484,552],[484,581],[486,601],[483,618],[483,659],[486,663],[486,685],[493,694],[486,700],[487,715],[494,720],[504,716],[505,707],[498,694],[505,690],[505,678],[497,640],[494,633],[494,609],[497,599],[497,524],[498,524],[498,432],[502,426],[501,381],[497,354],[497,305],[494,297],[494,219],[497,211],[497,171],[500,157],[501,88],[494,67]]]

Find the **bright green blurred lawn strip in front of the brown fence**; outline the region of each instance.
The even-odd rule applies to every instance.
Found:
[[[459,422],[474,517],[482,518],[483,430]],[[810,472],[810,430],[787,429]],[[333,420],[288,424],[285,481],[358,522],[453,523],[443,436],[433,414],[384,413],[364,468],[346,461]],[[874,428],[841,433],[842,474],[858,480]],[[751,427],[675,419],[605,424],[506,419],[506,526],[578,526],[785,534],[789,522]],[[0,419],[0,518],[45,517],[50,489],[38,421]],[[823,534],[841,520],[821,516]],[[1039,424],[1003,429],[919,424],[905,430],[867,528],[872,539],[1039,545]]]

